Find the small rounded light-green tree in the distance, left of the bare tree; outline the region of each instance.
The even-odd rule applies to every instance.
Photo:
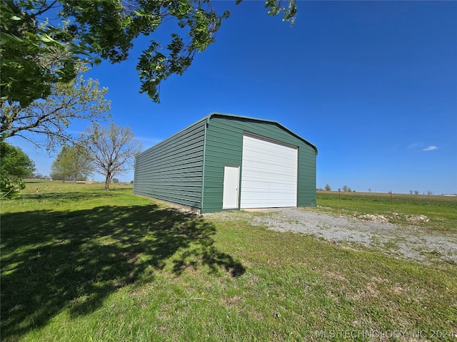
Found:
[[[64,145],[51,164],[53,180],[86,180],[94,170],[89,150],[81,144]]]

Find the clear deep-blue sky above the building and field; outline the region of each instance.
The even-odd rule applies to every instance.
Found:
[[[276,120],[316,145],[317,187],[457,192],[457,2],[298,1],[293,27],[266,16],[263,1],[214,4],[231,17],[183,76],[161,85],[160,104],[139,93],[146,40],[129,61],[87,74],[109,88],[114,122],[145,148],[230,113]],[[49,175],[54,156],[10,143]]]

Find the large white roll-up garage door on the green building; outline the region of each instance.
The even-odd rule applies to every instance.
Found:
[[[244,134],[240,207],[296,207],[297,165],[297,147]]]

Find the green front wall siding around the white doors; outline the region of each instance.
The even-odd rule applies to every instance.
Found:
[[[201,212],[222,210],[224,165],[239,165],[242,174],[244,132],[298,146],[297,205],[298,207],[316,205],[317,152],[315,147],[278,123],[213,114],[209,116],[209,125],[206,128],[204,203]]]

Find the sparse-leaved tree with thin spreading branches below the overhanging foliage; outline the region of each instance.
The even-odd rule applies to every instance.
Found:
[[[57,54],[59,53],[59,55]],[[36,59],[48,68],[57,68],[60,58],[69,57],[69,46],[62,51],[47,53]],[[89,67],[78,62],[74,70],[77,78],[68,83],[53,83],[46,100],[34,100],[27,106],[20,102],[4,101],[0,108],[0,139],[19,136],[47,150],[72,140],[67,128],[74,120],[101,122],[109,117],[110,103],[104,98],[107,88],[99,81],[85,80]]]

